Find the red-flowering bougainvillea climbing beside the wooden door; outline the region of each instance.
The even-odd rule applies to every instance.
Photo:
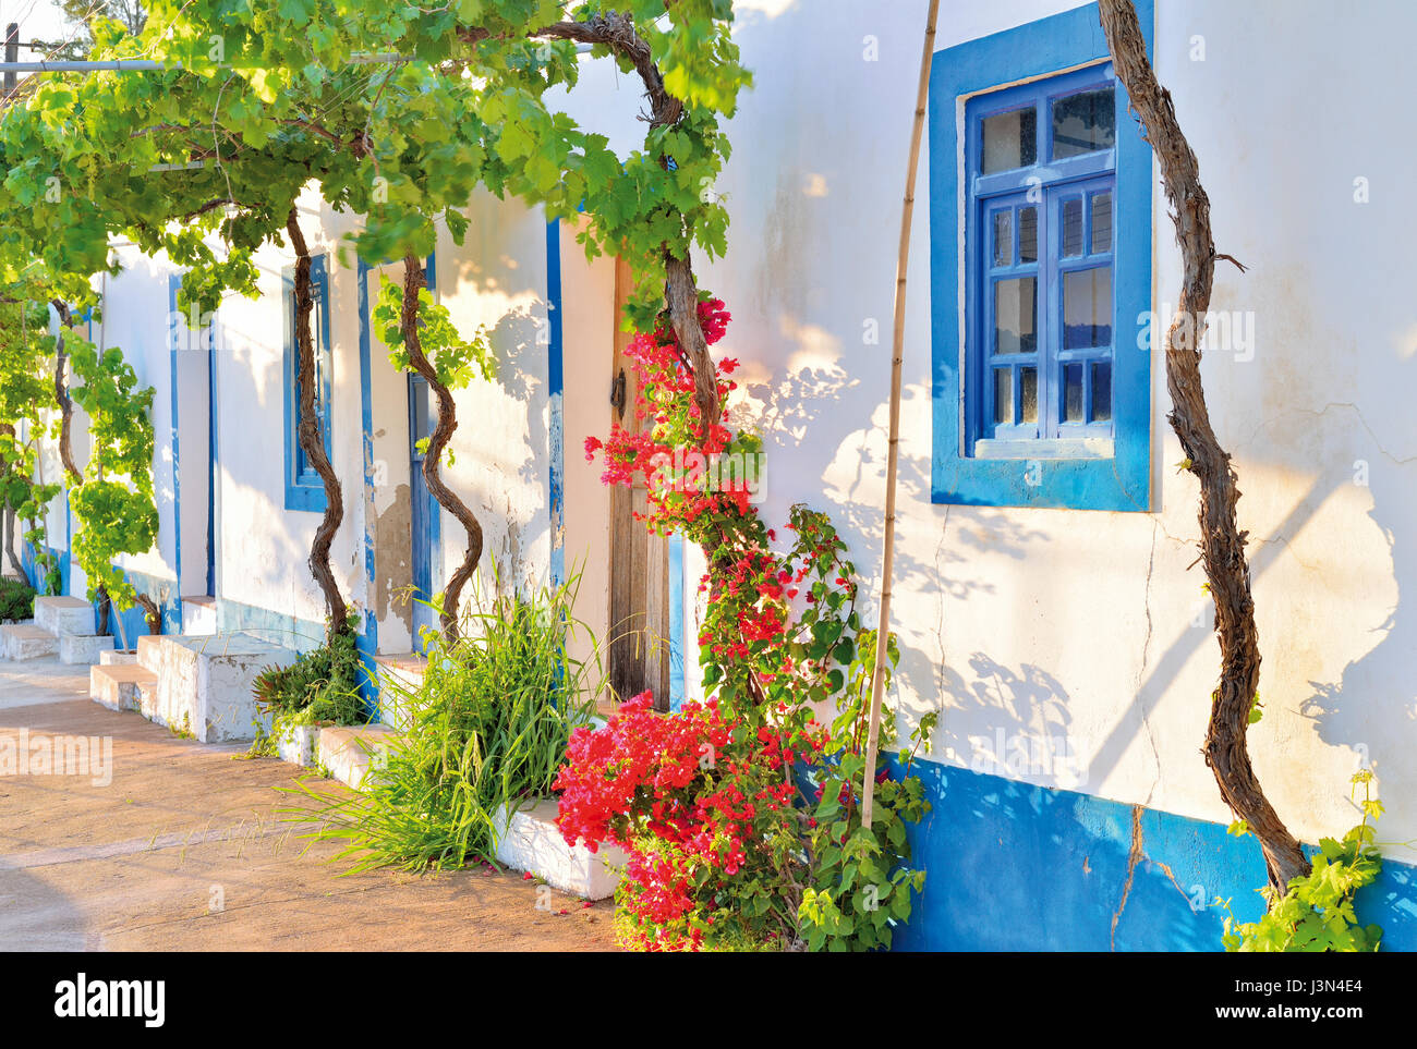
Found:
[[[718,343],[730,320],[723,303],[701,302],[699,316]],[[825,514],[799,504],[779,549],[754,503],[761,442],[703,425],[667,326],[635,336],[629,355],[638,426],[587,439],[585,453],[601,456],[606,484],[648,490],[649,529],[703,548],[697,640],[708,699],[660,715],[645,694],[604,728],[578,732],[555,784],[561,831],[572,844],[626,851],[621,927],[635,946],[888,946],[924,883],[908,865],[905,822],[928,804],[908,776],[913,755],[901,755],[903,779],[887,764],[873,770],[880,814],[870,831],[860,824],[876,646],[856,609],[846,544]],[[717,362],[724,402],[735,368]],[[894,665],[894,638],[888,651]],[[917,730],[917,747],[931,728],[927,719]]]

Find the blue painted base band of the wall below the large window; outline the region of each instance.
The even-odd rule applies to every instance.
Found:
[[[931,803],[907,827],[927,876],[897,950],[1107,951],[1121,912],[1118,951],[1219,951],[1217,896],[1243,922],[1264,910],[1260,847],[1224,824],[1141,808],[1134,868],[1129,804],[934,762],[911,772]],[[1384,859],[1356,909],[1383,926],[1383,950],[1417,950],[1417,868]]]

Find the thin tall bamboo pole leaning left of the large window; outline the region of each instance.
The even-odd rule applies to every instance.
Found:
[[[910,225],[915,214],[915,168],[920,140],[925,130],[930,101],[930,61],[935,54],[935,18],[939,0],[930,0],[925,16],[925,44],[920,57],[920,86],[915,92],[915,122],[910,132],[910,163],[905,166],[905,200],[900,217],[900,253],[896,259],[896,317],[890,362],[890,442],[886,457],[886,548],[881,558],[881,613],[876,629],[876,668],[871,674],[871,715],[866,733],[866,764],[862,773],[862,825],[870,830],[876,801],[876,753],[880,749],[881,697],[886,692],[886,643],[890,637],[890,583],[896,569],[896,473],[900,460],[900,372],[905,347],[905,272],[910,266]]]

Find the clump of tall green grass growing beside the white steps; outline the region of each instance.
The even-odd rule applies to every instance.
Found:
[[[575,619],[580,575],[560,586],[502,592],[493,571],[476,583],[462,638],[432,640],[417,692],[398,699],[407,732],[371,769],[364,791],[332,800],[303,787],[299,820],[315,838],[344,844],[350,871],[448,869],[490,859],[499,810],[550,793],[572,729],[589,721],[605,687],[599,647]],[[570,653],[588,638],[589,660]]]

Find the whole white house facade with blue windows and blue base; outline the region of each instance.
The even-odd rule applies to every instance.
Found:
[[[869,569],[881,554],[925,3],[735,7],[755,86],[713,187],[733,217],[727,259],[700,265],[700,283],[733,313],[720,348],[744,362],[740,394],[767,443],[767,520],[798,501],[826,510]],[[1138,10],[1200,160],[1217,249],[1248,266],[1217,266],[1203,374],[1250,532],[1265,709],[1250,749],[1306,842],[1355,824],[1349,777],[1377,773],[1389,862],[1360,906],[1387,946],[1408,948],[1417,633],[1401,599],[1417,561],[1397,546],[1417,529],[1406,405],[1417,147],[1400,129],[1417,11],[1397,0]],[[903,716],[941,719],[924,772],[935,810],[917,835],[930,881],[905,943],[1213,948],[1221,916],[1206,905],[1234,898],[1253,915],[1264,868],[1253,839],[1226,835],[1231,815],[1200,755],[1219,650],[1192,568],[1197,488],[1176,469],[1161,352],[1146,348],[1148,336],[1159,345],[1148,314],[1169,316],[1180,286],[1151,151],[1094,4],[959,0],[945,4],[937,47],[911,246],[894,629]],[[584,61],[567,108],[632,149],[638,82]],[[339,251],[357,219],[307,205],[344,488],[332,559],[366,647],[407,653],[418,606],[400,592],[424,552],[439,589],[462,532],[446,514],[419,524],[417,394],[370,331],[378,272]],[[580,565],[581,614],[605,634],[615,511],[581,443],[615,411],[615,263],[587,263],[571,229],[516,202],[479,195],[469,215],[462,248],[439,241],[436,294],[465,333],[493,328],[499,378],[458,394],[446,477],[510,578]],[[157,389],[162,504],[159,546],[126,568],[166,587],[173,629],[203,604],[188,599],[211,596],[221,629],[307,647],[323,603],[305,565],[319,514],[292,477],[285,399],[292,256],[266,252],[262,297],[228,300],[207,336],[179,330],[177,348],[166,321],[177,275],[132,249],[125,263],[95,336]],[[50,535],[62,549],[62,497]],[[689,651],[660,672],[691,697],[701,568],[677,545],[649,554],[665,575],[636,600]],[[77,578],[68,586],[84,592]]]

